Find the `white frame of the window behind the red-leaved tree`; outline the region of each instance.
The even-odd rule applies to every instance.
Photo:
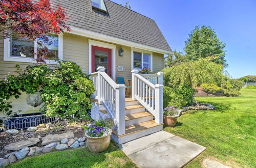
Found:
[[[37,63],[35,61],[37,55],[37,39],[34,41],[34,58],[24,58],[24,57],[12,57],[11,56],[11,38],[6,38],[4,40],[4,61],[15,61],[24,63]],[[58,59],[63,59],[63,35],[58,35]],[[45,60],[47,64],[57,64],[55,60]]]

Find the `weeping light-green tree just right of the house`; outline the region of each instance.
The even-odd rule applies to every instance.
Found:
[[[173,88],[181,93],[186,104],[197,103],[193,95],[193,88],[201,83],[221,84],[223,66],[212,62],[211,59],[199,59],[198,61],[182,62],[179,65],[163,69],[165,86]],[[178,103],[176,103],[178,104]]]

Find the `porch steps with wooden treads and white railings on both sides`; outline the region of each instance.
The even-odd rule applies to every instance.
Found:
[[[92,97],[92,118],[111,118],[115,124],[112,138],[123,144],[163,129],[163,76],[139,74],[132,70],[131,98],[125,98],[124,84],[117,84],[104,67],[98,67],[89,78],[95,92]]]

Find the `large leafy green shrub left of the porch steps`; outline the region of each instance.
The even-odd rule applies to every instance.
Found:
[[[23,91],[34,94],[40,92],[45,104],[40,109],[48,117],[60,119],[88,118],[87,111],[91,108],[90,95],[94,92],[93,82],[82,73],[81,68],[72,62],[59,62],[54,69],[45,64],[34,64],[19,70],[17,76],[10,75],[0,83],[0,102],[10,96],[18,98]],[[9,102],[0,106],[2,112],[10,115],[12,111]]]

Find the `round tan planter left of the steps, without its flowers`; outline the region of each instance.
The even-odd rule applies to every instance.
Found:
[[[110,145],[110,135],[103,137],[90,137],[86,134],[88,148],[93,153],[100,153],[108,149]]]

